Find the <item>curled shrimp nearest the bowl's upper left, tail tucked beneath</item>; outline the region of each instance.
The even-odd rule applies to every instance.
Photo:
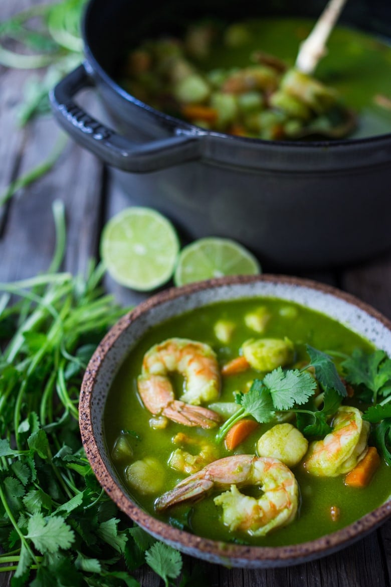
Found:
[[[175,399],[169,373],[185,377],[185,393]],[[154,416],[162,414],[185,426],[212,428],[219,423],[216,412],[200,407],[217,399],[220,373],[209,345],[185,338],[169,338],[145,353],[137,380],[142,403]]]

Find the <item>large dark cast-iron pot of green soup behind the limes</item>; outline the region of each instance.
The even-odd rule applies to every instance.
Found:
[[[333,137],[324,130],[335,110],[324,116],[322,100],[297,104],[289,78],[282,95],[273,86],[280,83],[276,63],[292,68],[322,8],[290,0],[169,0],[164,9],[155,1],[90,0],[83,20],[86,60],[53,90],[53,111],[74,139],[110,166],[132,202],[163,212],[185,239],[237,239],[273,271],[369,258],[391,245],[391,11],[386,0],[353,0],[332,33],[315,76],[331,88],[322,94],[326,103],[336,90],[342,110],[352,111],[357,122]],[[217,36],[207,62],[183,82],[183,70],[194,63],[161,63],[173,43],[159,45],[159,39],[174,39],[175,46],[189,26],[205,21],[217,23],[222,41]],[[240,26],[248,38],[235,46]],[[159,63],[142,70],[151,60],[145,46],[154,42],[151,55]],[[138,77],[125,79],[127,68]],[[246,91],[235,69],[246,73]],[[179,93],[185,104],[172,99],[172,84],[166,88],[157,79],[161,70],[174,79],[174,98]],[[266,83],[261,96],[251,85],[260,78]],[[91,85],[105,124],[76,101]],[[301,134],[300,121],[314,107],[318,114],[309,124],[315,133],[307,136],[306,122]],[[341,130],[349,117],[341,119],[336,110]],[[217,117],[215,123],[208,116]]]

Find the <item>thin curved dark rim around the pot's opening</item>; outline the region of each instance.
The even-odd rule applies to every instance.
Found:
[[[141,108],[142,111],[147,114],[147,116],[152,117],[152,119],[156,120],[157,122],[161,123],[164,127],[175,129],[176,133],[189,133],[194,134],[196,136],[206,136],[206,137],[213,137],[217,140],[233,140],[236,143],[245,143],[247,146],[264,146],[267,149],[271,149],[272,151],[280,150],[283,148],[286,150],[287,148],[293,150],[304,150],[308,149],[308,147],[314,147],[315,149],[324,150],[327,148],[328,150],[337,150],[341,149],[341,147],[368,147],[371,149],[373,146],[381,147],[382,144],[388,144],[391,141],[391,132],[385,134],[378,134],[370,137],[362,137],[361,139],[336,139],[336,140],[315,140],[315,141],[302,141],[302,140],[292,140],[292,141],[282,141],[282,140],[273,140],[268,141],[264,139],[253,139],[251,137],[239,137],[234,136],[232,134],[227,133],[220,133],[214,130],[207,130],[202,129],[199,126],[195,126],[194,124],[185,122],[181,119],[175,118],[174,116],[169,116],[169,114],[165,114],[164,112],[160,112],[156,110],[154,107],[149,106],[142,100],[138,100],[130,93],[128,93],[123,87],[117,84],[115,80],[110,76],[106,69],[100,65],[98,60],[95,58],[93,51],[91,50],[90,44],[88,42],[88,26],[89,26],[89,19],[90,14],[94,10],[94,4],[98,0],[89,0],[87,3],[86,8],[84,9],[83,18],[81,19],[81,35],[83,38],[84,43],[84,55],[86,56],[87,62],[89,63],[89,67],[87,68],[89,72],[93,72],[96,70],[98,75],[104,79],[108,86],[117,94],[120,95],[126,102],[132,104],[137,108]]]

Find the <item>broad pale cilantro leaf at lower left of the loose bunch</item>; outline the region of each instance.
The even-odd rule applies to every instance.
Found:
[[[33,514],[28,522],[28,534],[40,552],[57,552],[59,548],[69,548],[74,541],[74,532],[60,517],[44,518]]]

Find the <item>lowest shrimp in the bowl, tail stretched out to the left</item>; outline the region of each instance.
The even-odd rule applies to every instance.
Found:
[[[244,495],[238,487],[260,485],[259,498]],[[220,458],[181,481],[155,501],[157,511],[186,500],[198,500],[209,491],[229,491],[213,500],[223,508],[222,522],[230,531],[264,536],[271,529],[293,521],[298,508],[294,474],[277,458],[237,454]]]

